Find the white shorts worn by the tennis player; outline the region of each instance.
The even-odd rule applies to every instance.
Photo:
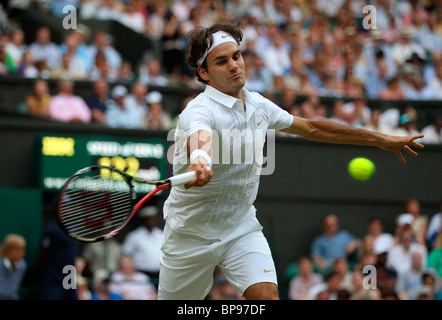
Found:
[[[248,230],[242,229],[242,232],[234,231],[221,241],[214,241],[173,231],[166,223],[158,299],[206,298],[213,285],[216,266],[221,268],[241,296],[255,283],[272,282],[277,285],[268,242],[261,228],[256,227],[259,223],[253,220],[247,224],[254,226]]]

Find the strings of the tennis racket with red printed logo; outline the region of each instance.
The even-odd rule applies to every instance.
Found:
[[[104,178],[97,170],[77,176],[65,187],[59,219],[71,235],[93,239],[121,226],[131,209],[128,182],[115,175]]]

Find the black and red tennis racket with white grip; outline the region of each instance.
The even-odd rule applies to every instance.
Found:
[[[58,221],[75,240],[106,240],[118,234],[153,195],[186,184],[195,177],[195,171],[190,171],[166,180],[151,181],[130,176],[114,167],[86,167],[61,187],[57,200]],[[134,183],[155,188],[137,202]]]

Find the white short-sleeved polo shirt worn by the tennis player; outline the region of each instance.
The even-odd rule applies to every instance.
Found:
[[[246,219],[255,219],[253,203],[268,129],[288,128],[293,116],[258,93],[243,89],[240,99],[207,85],[180,114],[174,135],[174,175],[189,166],[189,135],[212,133],[213,177],[203,187],[173,187],[164,204],[170,228],[206,239],[223,239]]]

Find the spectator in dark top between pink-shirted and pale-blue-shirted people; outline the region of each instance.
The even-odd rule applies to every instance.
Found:
[[[86,99],[91,110],[92,122],[106,124],[106,110],[109,100],[109,85],[103,78],[94,81],[92,93]]]

